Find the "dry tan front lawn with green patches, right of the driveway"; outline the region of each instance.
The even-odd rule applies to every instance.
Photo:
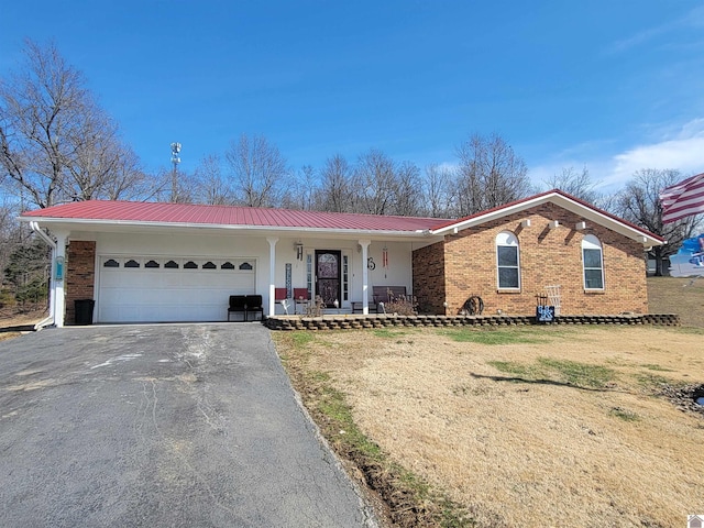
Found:
[[[666,381],[704,383],[704,333],[513,328],[491,333],[513,344],[455,340],[488,332],[328,332],[284,353],[329,374],[364,433],[477,526],[670,527],[704,512],[704,415],[656,395]]]

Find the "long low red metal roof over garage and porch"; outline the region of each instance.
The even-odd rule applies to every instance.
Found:
[[[105,200],[76,201],[37,209],[24,212],[22,218],[402,232],[424,231],[448,223],[447,219],[438,218]]]

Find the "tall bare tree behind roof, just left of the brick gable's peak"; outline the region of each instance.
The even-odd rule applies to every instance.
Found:
[[[531,191],[526,162],[499,135],[472,135],[458,150],[460,216],[524,198]]]

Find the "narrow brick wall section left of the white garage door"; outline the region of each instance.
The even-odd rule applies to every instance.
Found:
[[[74,301],[94,299],[96,284],[96,243],[72,240],[66,255],[66,317],[65,324],[76,322]]]

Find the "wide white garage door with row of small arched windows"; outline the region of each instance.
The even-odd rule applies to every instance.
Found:
[[[99,258],[98,322],[224,321],[230,295],[254,294],[253,258]]]

